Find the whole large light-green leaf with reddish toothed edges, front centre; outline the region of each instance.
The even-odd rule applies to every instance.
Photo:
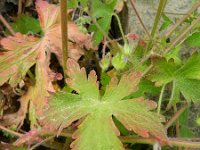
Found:
[[[167,141],[161,119],[150,111],[156,107],[155,102],[143,98],[123,99],[137,90],[141,73],[124,75],[119,82],[113,77],[103,97],[99,97],[95,72],[91,71],[87,78],[85,69],[80,69],[74,60],[68,59],[67,65],[70,68],[67,83],[79,95],[54,94],[40,121],[59,134],[72,122],[84,118],[73,134],[76,139],[71,145],[73,149],[123,149],[112,116],[142,137],[149,138],[151,134],[159,141]]]

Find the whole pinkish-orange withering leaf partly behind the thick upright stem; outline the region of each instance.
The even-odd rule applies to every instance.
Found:
[[[62,64],[61,29],[59,7],[43,0],[36,1],[36,9],[44,32],[41,39],[16,33],[13,37],[3,38],[1,45],[7,52],[0,53],[0,85],[9,82],[16,86],[26,75],[27,71],[36,64],[36,83],[20,98],[21,107],[15,114],[4,116],[6,124],[22,125],[31,100],[30,112],[39,116],[49,92],[54,92],[52,81],[55,73],[49,69],[51,53],[55,53]],[[69,56],[78,60],[83,55],[82,48],[91,48],[91,37],[83,34],[78,27],[69,22]],[[73,42],[73,43],[72,43]],[[22,108],[23,106],[23,108]],[[34,114],[34,113],[30,113]],[[30,116],[30,118],[34,118]],[[34,122],[34,121],[33,121]],[[31,123],[34,126],[34,123]]]

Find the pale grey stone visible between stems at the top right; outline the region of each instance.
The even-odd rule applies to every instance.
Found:
[[[181,14],[187,13],[191,8],[193,0],[168,0],[165,12],[166,15],[172,18],[173,20],[181,17]],[[159,0],[135,0],[135,6],[138,10],[146,28],[151,32],[153,22],[156,16],[156,11],[158,8]],[[128,28],[129,32],[137,33],[142,35],[144,30],[138,21],[135,12],[132,9],[130,1],[128,1],[128,10],[129,10],[129,23]],[[180,15],[175,15],[177,13]]]

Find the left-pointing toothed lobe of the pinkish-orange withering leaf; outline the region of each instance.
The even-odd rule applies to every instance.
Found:
[[[0,86],[8,81],[14,87],[24,78],[36,62],[37,42],[37,38],[20,33],[0,41],[0,44],[7,49],[0,55]]]

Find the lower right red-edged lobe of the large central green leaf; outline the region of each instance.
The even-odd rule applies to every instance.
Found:
[[[165,130],[161,124],[157,124],[158,122],[162,122],[162,118],[160,118],[159,115],[148,111],[154,109],[155,105],[155,102],[144,99],[122,100],[119,103],[114,104],[113,115],[128,130],[133,130],[144,138],[149,138],[150,134],[152,134],[157,139],[165,141],[166,135],[163,134]]]

